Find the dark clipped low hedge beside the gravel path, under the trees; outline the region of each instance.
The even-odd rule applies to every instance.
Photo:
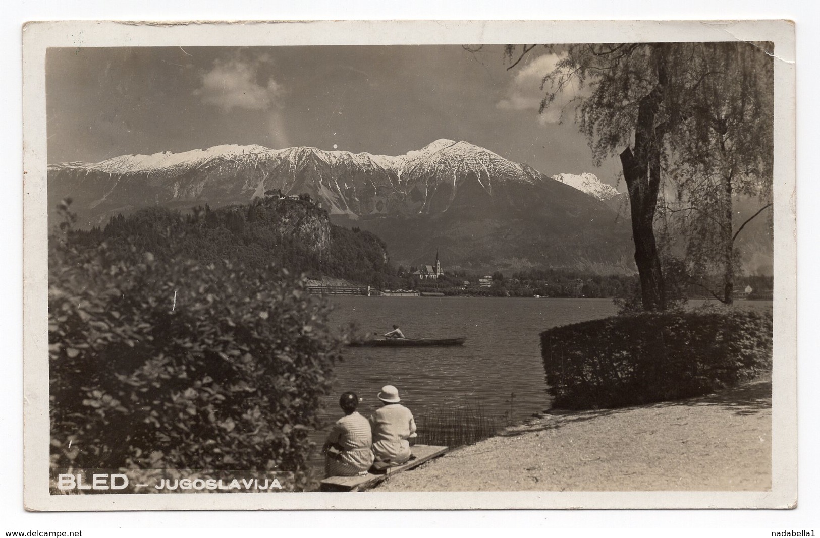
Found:
[[[772,367],[772,312],[620,315],[541,333],[553,407],[599,409],[700,396]]]

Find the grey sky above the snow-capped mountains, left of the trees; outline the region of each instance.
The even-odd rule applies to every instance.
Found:
[[[48,162],[220,144],[401,155],[450,138],[623,189],[616,159],[594,165],[572,93],[538,113],[555,61],[533,51],[508,70],[501,46],[52,48]]]

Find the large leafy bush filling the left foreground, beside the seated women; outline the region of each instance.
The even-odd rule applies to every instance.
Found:
[[[307,486],[341,341],[304,279],[57,236],[48,269],[52,468],[276,469]]]

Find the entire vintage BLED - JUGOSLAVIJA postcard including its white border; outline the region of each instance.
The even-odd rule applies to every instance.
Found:
[[[32,23],[26,508],[793,508],[794,27],[727,25]]]

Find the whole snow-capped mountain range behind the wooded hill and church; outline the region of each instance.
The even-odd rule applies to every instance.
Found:
[[[575,177],[585,176],[594,179]],[[555,181],[448,139],[401,156],[225,145],[50,165],[48,199],[54,207],[71,197],[78,223],[89,226],[145,206],[189,210],[247,203],[276,189],[307,192],[337,224],[353,219],[384,238],[397,263],[430,263],[439,248],[451,268],[631,270],[628,228],[600,196],[590,196],[612,188],[595,179],[598,190],[587,193],[591,179]]]

